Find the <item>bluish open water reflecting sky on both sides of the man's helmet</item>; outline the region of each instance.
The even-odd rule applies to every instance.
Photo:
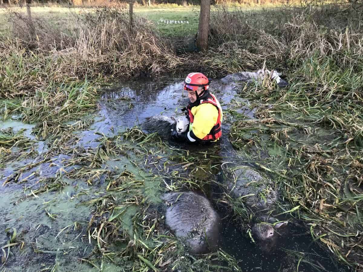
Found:
[[[237,87],[216,80],[211,83],[211,92],[216,94],[222,107],[227,108]],[[182,78],[123,83],[103,93],[99,101],[99,114],[104,118],[105,125],[99,128],[105,133],[105,127],[111,130],[132,127],[155,115],[180,115],[180,109],[188,102],[187,94],[183,92]]]

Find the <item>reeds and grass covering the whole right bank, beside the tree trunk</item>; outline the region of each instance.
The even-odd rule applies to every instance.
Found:
[[[334,21],[320,8],[309,16],[291,8],[220,9],[212,15],[217,49],[204,63],[223,74],[256,62],[286,74],[287,88],[267,79],[239,90],[256,107],[256,119],[229,108],[237,119],[231,144],[281,182],[313,239],[362,271],[363,34],[348,17]]]

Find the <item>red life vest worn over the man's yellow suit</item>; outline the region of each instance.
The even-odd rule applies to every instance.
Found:
[[[212,94],[209,94],[205,99],[200,100],[200,103],[193,105],[193,107],[199,106],[200,104],[204,104],[204,103],[211,103],[212,105],[214,105],[217,108],[218,118],[217,118],[216,124],[212,127],[211,131],[202,140],[215,141],[222,136],[222,127],[221,127],[222,109],[220,107],[220,104],[219,104],[217,98]],[[192,114],[192,107],[191,108],[187,107],[187,111],[188,111],[189,121],[192,124],[194,121],[194,115]]]

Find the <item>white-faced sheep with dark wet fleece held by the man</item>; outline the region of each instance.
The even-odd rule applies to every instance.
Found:
[[[157,132],[163,138],[170,138],[171,130],[175,129],[178,133],[188,130],[189,120],[185,116],[181,116],[176,120],[174,117],[168,116],[152,116],[141,124],[141,127],[147,132]]]

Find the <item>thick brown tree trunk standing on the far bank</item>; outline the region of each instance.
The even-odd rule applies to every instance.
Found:
[[[211,13],[211,0],[200,1],[200,15],[198,26],[197,47],[199,50],[208,49],[209,15]]]

